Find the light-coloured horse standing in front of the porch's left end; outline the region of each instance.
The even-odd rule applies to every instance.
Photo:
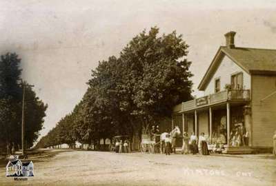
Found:
[[[172,130],[170,133],[168,132],[163,132],[161,135],[160,135],[160,153],[165,153],[165,138],[167,135],[170,135],[170,143],[172,144],[172,149],[174,150],[173,152],[175,152],[175,138],[177,136],[179,136],[179,134],[181,134],[180,132],[180,129],[178,126],[175,126],[175,129]]]

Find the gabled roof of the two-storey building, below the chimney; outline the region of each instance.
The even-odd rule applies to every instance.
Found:
[[[276,50],[259,48],[228,48],[221,46],[215,54],[206,74],[199,83],[198,89],[205,90],[215,74],[224,56],[232,59],[248,74],[276,74]]]

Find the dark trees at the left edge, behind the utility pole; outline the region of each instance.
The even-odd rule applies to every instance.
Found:
[[[21,59],[15,53],[1,55],[0,59],[0,149],[7,145],[21,147],[21,117],[23,84],[21,82]],[[47,105],[44,104],[28,85],[25,102],[25,143],[32,147],[43,127]]]

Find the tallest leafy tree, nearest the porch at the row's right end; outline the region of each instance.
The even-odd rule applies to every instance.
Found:
[[[130,92],[128,108],[144,127],[161,116],[170,116],[172,106],[191,99],[192,74],[186,59],[188,45],[176,32],[159,37],[159,29],[141,32],[121,52],[124,90]]]

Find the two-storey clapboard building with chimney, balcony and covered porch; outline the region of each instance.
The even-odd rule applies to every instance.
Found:
[[[276,50],[238,48],[235,32],[221,46],[199,83],[204,96],[176,105],[172,127],[204,132],[226,153],[273,147],[276,130]]]

